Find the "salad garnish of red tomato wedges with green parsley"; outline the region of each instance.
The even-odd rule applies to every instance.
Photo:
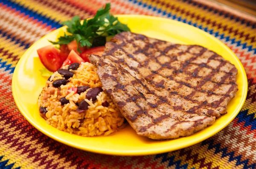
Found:
[[[130,31],[127,25],[119,22],[110,14],[110,3],[100,8],[91,19],[80,20],[75,16],[63,22],[67,31],[56,42],[37,50],[38,56],[45,66],[41,69],[42,76],[55,72],[64,65],[90,62],[90,54],[102,55],[105,43],[122,31]],[[47,70],[49,71],[47,71]]]

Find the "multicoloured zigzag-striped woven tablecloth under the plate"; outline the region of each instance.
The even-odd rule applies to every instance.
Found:
[[[168,17],[198,27],[239,57],[249,90],[237,117],[194,146],[159,155],[122,157],[58,143],[20,114],[12,73],[36,40],[75,15],[92,17],[107,0],[0,0],[0,169],[6,168],[256,168],[256,23],[193,0],[112,0],[113,14]],[[255,19],[255,18],[254,18]]]

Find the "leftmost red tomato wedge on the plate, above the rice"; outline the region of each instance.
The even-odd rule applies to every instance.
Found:
[[[63,59],[61,59],[60,52],[61,51],[59,49],[52,45],[48,45],[37,50],[42,64],[52,72],[61,68]]]

